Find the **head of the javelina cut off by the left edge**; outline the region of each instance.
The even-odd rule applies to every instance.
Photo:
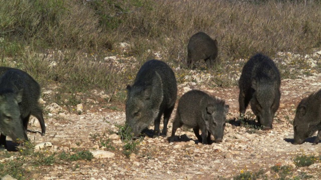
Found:
[[[23,91],[20,90],[18,92],[7,91],[0,94],[1,134],[10,136],[13,141],[18,142],[28,140],[18,105],[22,101],[22,93]]]

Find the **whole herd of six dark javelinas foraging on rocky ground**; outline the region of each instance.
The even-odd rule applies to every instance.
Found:
[[[208,68],[216,63],[218,42],[204,32],[191,36],[188,42],[187,68],[204,59]],[[271,58],[261,53],[253,55],[244,65],[239,79],[239,111],[245,113],[248,104],[263,129],[272,129],[273,116],[280,103],[280,73]],[[153,137],[167,136],[167,126],[177,99],[177,81],[172,68],[161,60],[148,60],[138,70],[134,83],[127,85],[126,121],[134,136],[154,122]],[[6,136],[13,141],[28,141],[30,115],[38,118],[41,134],[46,126],[38,104],[40,85],[27,72],[0,67],[0,147],[7,148]],[[318,131],[313,144],[321,138],[321,89],[303,98],[296,108],[293,121],[294,142],[301,144]],[[176,140],[177,128],[193,128],[199,142],[222,142],[229,105],[225,100],[201,90],[190,90],[179,99],[169,142]],[[164,127],[159,124],[164,115]],[[201,130],[201,135],[199,131]]]

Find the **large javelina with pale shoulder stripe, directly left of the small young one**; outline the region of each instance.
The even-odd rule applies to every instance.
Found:
[[[177,97],[177,82],[171,67],[160,60],[149,60],[139,69],[132,86],[127,85],[126,124],[135,136],[152,121],[154,135],[159,135],[159,123],[164,113],[163,135]]]

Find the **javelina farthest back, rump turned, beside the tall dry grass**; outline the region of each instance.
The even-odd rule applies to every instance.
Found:
[[[204,32],[197,32],[192,35],[187,45],[187,65],[191,68],[194,62],[204,59],[210,68],[215,63],[217,52],[217,40],[213,40]]]

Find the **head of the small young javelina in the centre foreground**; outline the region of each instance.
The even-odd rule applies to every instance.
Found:
[[[208,104],[206,107],[205,123],[207,130],[213,134],[217,142],[222,142],[228,111],[229,105],[224,104],[224,101],[219,104]]]

